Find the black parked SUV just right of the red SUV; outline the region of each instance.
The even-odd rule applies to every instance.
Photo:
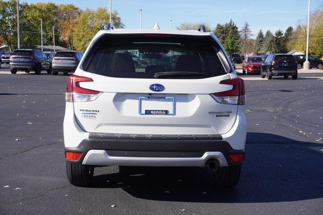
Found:
[[[292,76],[293,79],[297,79],[297,61],[293,55],[271,54],[261,65],[260,76],[267,76],[269,80],[273,76]]]

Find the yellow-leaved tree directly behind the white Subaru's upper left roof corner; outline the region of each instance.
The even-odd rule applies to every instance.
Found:
[[[106,8],[98,8],[96,11],[86,9],[76,20],[73,29],[73,42],[77,50],[85,51],[93,36],[109,23],[109,13]],[[112,20],[116,28],[124,28],[123,22],[117,11],[112,13]]]

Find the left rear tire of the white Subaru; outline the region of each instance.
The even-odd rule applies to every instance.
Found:
[[[91,184],[93,179],[94,168],[75,164],[71,162],[66,162],[66,175],[71,184],[75,186],[88,186]]]

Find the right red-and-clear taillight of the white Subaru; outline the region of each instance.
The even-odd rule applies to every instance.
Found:
[[[210,94],[216,101],[225,104],[245,104],[245,86],[241,78],[233,78],[220,81],[220,84],[232,85],[232,89],[224,92]]]

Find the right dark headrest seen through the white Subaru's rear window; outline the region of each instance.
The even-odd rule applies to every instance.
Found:
[[[182,55],[177,60],[176,71],[200,72],[201,60],[197,55]]]

